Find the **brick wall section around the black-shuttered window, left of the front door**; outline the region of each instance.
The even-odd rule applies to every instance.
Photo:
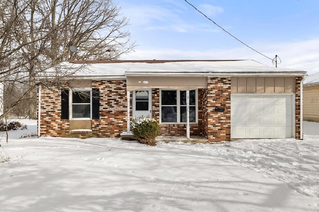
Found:
[[[127,129],[126,81],[92,81],[100,89],[100,118],[92,120],[92,132],[70,131],[69,120],[61,119],[61,91],[41,88],[40,134],[60,137],[120,137]]]

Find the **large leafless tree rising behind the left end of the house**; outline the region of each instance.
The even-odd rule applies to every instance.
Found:
[[[0,0],[0,16],[1,82],[27,85],[16,99],[30,101],[30,118],[47,70],[60,85],[75,73],[52,71],[61,62],[115,60],[135,46],[113,0]]]

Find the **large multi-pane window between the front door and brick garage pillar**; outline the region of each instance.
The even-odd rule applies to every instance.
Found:
[[[162,123],[185,123],[186,91],[161,90],[160,116]],[[196,122],[197,90],[189,91],[189,122]]]

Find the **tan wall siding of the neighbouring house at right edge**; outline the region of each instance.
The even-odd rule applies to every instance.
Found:
[[[319,122],[319,85],[304,87],[304,120]]]

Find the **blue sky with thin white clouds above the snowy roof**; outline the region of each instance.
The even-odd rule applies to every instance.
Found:
[[[280,68],[319,72],[319,0],[187,0]],[[244,46],[184,0],[117,0],[135,52],[122,59],[253,59]]]

